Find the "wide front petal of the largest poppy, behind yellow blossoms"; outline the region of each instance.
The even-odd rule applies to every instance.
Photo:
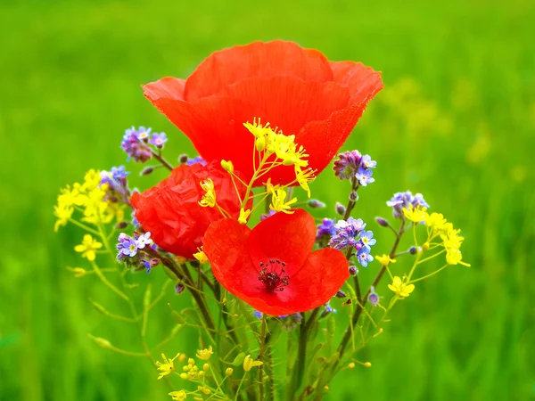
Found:
[[[170,97],[147,97],[190,138],[205,160],[232,160],[236,169],[245,177],[251,177],[254,141],[251,133],[243,127],[244,122],[252,122],[255,117],[262,116],[264,123],[283,129],[284,134],[297,134],[300,127],[310,120],[328,121],[334,110],[347,106],[350,94],[347,87],[334,82],[303,82],[299,78],[276,77],[244,79],[227,87],[221,94],[193,103]],[[310,99],[322,101],[310,102]],[[218,112],[214,113],[214,110]],[[347,135],[350,129],[352,127]],[[309,166],[318,172],[338,151],[339,146],[335,146],[347,137],[345,135],[342,141],[337,141],[339,133],[334,130],[329,130],[329,133],[333,138],[320,143],[322,149],[317,155],[320,162],[315,162],[314,158],[309,162]],[[210,141],[206,140],[207,137]],[[304,145],[299,135],[296,142]],[[316,156],[309,152],[307,146],[305,150]],[[325,154],[332,156],[329,158]],[[295,177],[291,167],[277,168],[270,176],[274,184],[288,183]],[[263,177],[262,182],[267,179],[268,176]]]

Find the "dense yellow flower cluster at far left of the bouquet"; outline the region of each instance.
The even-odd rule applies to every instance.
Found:
[[[100,172],[94,169],[87,171],[84,184],[75,183],[62,188],[58,196],[57,205],[53,214],[58,219],[54,225],[54,231],[67,225],[75,209],[80,210],[84,217],[81,221],[92,225],[110,223],[113,217],[121,221],[124,217],[124,205],[112,203],[105,199],[107,184],[100,185]]]

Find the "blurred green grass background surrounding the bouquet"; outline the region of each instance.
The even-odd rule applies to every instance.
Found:
[[[383,71],[383,92],[344,146],[378,161],[355,213],[374,226],[375,252],[390,249],[391,237],[372,218],[388,217],[384,201],[410,189],[462,228],[472,264],[420,283],[360,356],[373,367],[345,371],[329,399],[533,399],[534,19],[529,0],[3,0],[0,399],[169,399],[147,361],[87,339],[139,347],[135,331],[87,299],[114,311],[119,301],[94,277],[66,270],[85,266],[72,250],[81,233],[53,233],[55,197],[89,168],[124,163],[119,143],[131,125],[165,131],[169,159],[192,154],[140,85],[185,78],[215,50],[273,38]],[[328,169],[313,184],[329,204],[318,217],[333,216],[345,184]],[[157,286],[155,273],[136,280]],[[152,331],[169,330],[168,321],[161,307]],[[164,350],[177,348],[187,344]]]

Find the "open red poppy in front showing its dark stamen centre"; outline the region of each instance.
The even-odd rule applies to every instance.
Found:
[[[268,315],[306,312],[325,304],[350,274],[342,252],[312,251],[314,218],[303,209],[256,225],[226,218],[208,228],[203,250],[227,291]]]

